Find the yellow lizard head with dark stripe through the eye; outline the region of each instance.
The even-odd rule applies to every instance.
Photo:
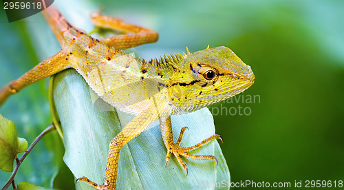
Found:
[[[254,82],[250,66],[228,47],[207,47],[193,54],[187,50],[169,80],[169,101],[192,112],[235,96]]]

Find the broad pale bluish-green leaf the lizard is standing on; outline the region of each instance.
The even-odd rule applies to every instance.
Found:
[[[54,81],[54,101],[63,127],[64,160],[76,178],[87,176],[103,184],[109,142],[133,116],[122,112],[100,111],[94,108],[91,98],[94,92],[75,70],[58,73]],[[215,134],[213,117],[208,109],[182,116],[172,116],[173,134],[177,140],[180,129],[189,127],[182,140],[189,147]],[[183,158],[189,167],[189,175],[174,156],[165,167],[164,147],[158,122],[152,123],[138,137],[120,151],[118,167],[119,189],[198,189],[211,187],[211,183],[230,182],[226,161],[215,140],[191,154],[211,154],[212,160]],[[85,182],[78,189],[88,189]],[[218,186],[217,186],[218,187]]]

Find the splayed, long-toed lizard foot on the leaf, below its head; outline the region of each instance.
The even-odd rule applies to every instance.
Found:
[[[192,158],[192,159],[210,159],[210,160],[214,160],[216,162],[216,165],[217,165],[217,160],[216,160],[215,156],[212,156],[212,155],[192,155],[192,154],[188,154],[187,152],[192,151],[194,149],[197,149],[199,147],[202,147],[202,145],[204,145],[207,142],[209,142],[213,139],[216,139],[216,138],[222,141],[222,137],[219,136],[218,134],[215,134],[209,138],[206,138],[205,140],[198,143],[197,145],[193,145],[192,147],[180,147],[180,142],[182,142],[183,134],[184,134],[184,131],[186,129],[188,129],[188,127],[182,128],[182,130],[180,131],[180,135],[179,135],[177,142],[173,142],[173,140],[172,140],[172,142],[167,143],[167,145],[166,145],[166,147],[167,147],[166,166],[167,166],[167,162],[169,162],[169,160],[171,158],[171,153],[174,154],[175,158],[177,158],[180,165],[182,165],[182,167],[185,169],[186,176],[188,175],[188,167],[183,162],[182,158],[180,158],[180,156],[184,156],[184,157]]]

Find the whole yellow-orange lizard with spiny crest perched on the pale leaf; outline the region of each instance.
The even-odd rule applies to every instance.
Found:
[[[244,92],[255,82],[246,65],[228,47],[206,47],[205,50],[160,56],[150,61],[122,50],[158,40],[154,30],[125,23],[113,17],[92,14],[96,27],[120,30],[124,34],[107,39],[95,39],[76,28],[53,6],[43,11],[62,50],[0,89],[0,105],[8,96],[19,92],[43,78],[74,68],[103,101],[133,114],[128,123],[109,143],[109,154],[103,184],[83,176],[76,180],[87,182],[96,189],[116,189],[120,149],[138,136],[153,121],[160,120],[160,130],[167,149],[166,165],[173,154],[188,173],[180,156],[210,159],[215,156],[192,155],[189,151],[222,137],[214,134],[192,147],[181,147],[187,127],[173,142],[171,115],[186,114]]]

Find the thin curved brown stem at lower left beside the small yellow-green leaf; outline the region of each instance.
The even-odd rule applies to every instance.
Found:
[[[10,179],[8,180],[8,182],[3,186],[3,188],[1,190],[7,189],[10,184],[12,184],[14,186],[14,176],[16,176],[17,171],[19,169],[19,166],[21,165],[21,163],[23,162],[23,160],[26,158],[26,156],[28,156],[28,154],[30,153],[30,151],[34,148],[34,145],[37,144],[37,142],[39,142],[39,140],[41,140],[41,138],[43,136],[45,136],[45,134],[48,134],[50,131],[55,129],[55,125],[54,123],[52,125],[49,125],[49,127],[47,127],[46,129],[44,129],[44,131],[41,132],[41,134],[39,134],[39,136],[36,137],[36,139],[34,139],[34,142],[32,142],[32,144],[30,145],[30,147],[28,148],[28,150],[25,151],[25,153],[23,154],[23,156],[21,156],[20,159],[16,158],[17,161],[17,165],[12,173],[12,176],[10,177]],[[15,186],[14,186],[15,187]],[[13,187],[13,189],[14,189]]]

